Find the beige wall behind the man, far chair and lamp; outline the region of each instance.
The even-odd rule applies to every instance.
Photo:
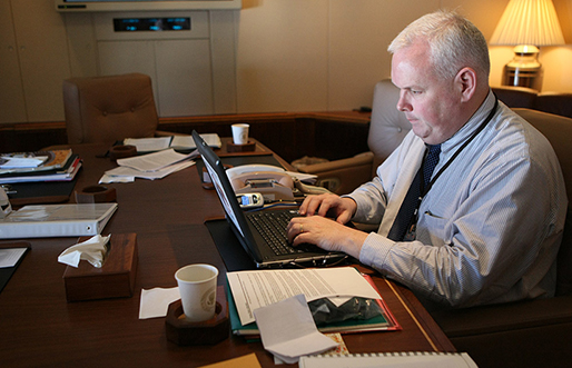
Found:
[[[542,90],[572,93],[572,68],[568,68],[572,64],[572,0],[553,1],[569,44],[541,49]],[[209,14],[208,37],[201,37],[200,42],[210,50],[214,71],[210,77],[199,77],[213,86],[195,88],[194,83],[181,82],[191,78],[189,60],[198,54],[190,47],[194,36],[179,47],[170,42],[172,34],[129,34],[128,42],[114,43],[120,52],[109,57],[102,52],[107,39],[101,40],[98,32],[100,14],[58,13],[53,0],[0,0],[0,123],[62,121],[62,79],[128,71],[151,74],[162,117],[335,111],[371,106],[375,82],[389,77],[387,46],[411,21],[438,8],[457,9],[491,38],[507,3],[509,0],[243,0],[241,10]],[[195,22],[194,30],[198,24]],[[169,42],[159,42],[162,40]],[[160,60],[139,57],[130,49],[137,46],[151,50],[166,43],[172,46],[172,53]],[[178,56],[179,49],[186,53]],[[513,57],[512,47],[490,50],[491,83],[499,86],[503,67]],[[137,56],[138,62],[124,62],[124,54]],[[168,62],[171,69],[166,70],[159,61]],[[109,71],[105,68],[109,64],[116,68]],[[168,96],[177,88],[190,91],[190,97],[179,101]],[[204,102],[199,103],[204,109],[194,108],[204,99],[211,100],[213,112]]]

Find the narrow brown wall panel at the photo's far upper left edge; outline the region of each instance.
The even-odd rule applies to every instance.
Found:
[[[10,0],[0,0],[0,122],[26,121]]]

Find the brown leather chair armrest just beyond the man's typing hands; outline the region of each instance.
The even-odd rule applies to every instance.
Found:
[[[303,166],[298,171],[316,175],[317,186],[345,195],[372,179],[373,158],[372,152],[365,152],[347,159]]]

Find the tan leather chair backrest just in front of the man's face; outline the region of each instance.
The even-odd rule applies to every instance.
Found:
[[[367,137],[367,146],[374,153],[374,170],[400,146],[411,130],[411,122],[397,110],[398,100],[400,89],[391,79],[381,80],[375,84]]]

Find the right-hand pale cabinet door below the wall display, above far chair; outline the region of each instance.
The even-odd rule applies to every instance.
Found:
[[[162,117],[214,113],[209,40],[156,41]]]

